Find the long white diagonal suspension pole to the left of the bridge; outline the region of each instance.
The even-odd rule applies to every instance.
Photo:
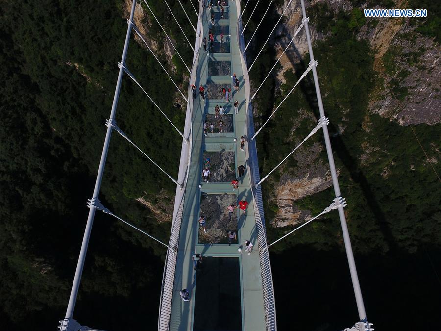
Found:
[[[123,63],[123,64],[125,63],[125,58],[127,56],[127,49],[128,49],[128,45],[129,45],[129,41],[130,41],[130,34],[132,31],[132,21],[133,21],[133,14],[135,12],[135,5],[136,5],[136,0],[133,0],[132,10],[130,12],[129,24],[127,27],[127,34],[125,36],[123,57],[121,58],[121,63]],[[115,95],[113,96],[113,103],[112,103],[112,110],[110,112],[110,119],[115,118],[116,108],[117,108],[117,104],[118,104],[118,98],[120,96],[121,82],[123,80],[123,74],[124,74],[124,67],[120,66],[120,72],[118,74],[117,85],[115,88]],[[112,126],[107,127],[106,139],[104,140],[104,146],[102,148],[102,153],[101,153],[101,160],[99,161],[97,180],[95,181],[95,188],[94,188],[94,195],[93,195],[93,198],[95,198],[95,200],[98,199],[99,190],[101,188],[101,179],[102,179],[102,175],[104,173],[104,166],[106,163],[107,151],[109,149],[110,136],[112,135],[112,131],[113,131]],[[87,246],[89,245],[90,233],[92,231],[92,225],[94,223],[95,209],[96,208],[93,208],[93,207],[89,209],[89,216],[87,218],[86,229],[84,230],[83,242],[81,244],[81,251],[80,251],[80,255],[78,257],[78,263],[76,265],[75,277],[73,279],[71,296],[69,298],[69,304],[68,304],[68,307],[66,310],[66,317],[65,318],[72,318],[73,317],[73,310],[75,308],[76,297],[78,295],[78,288],[79,288],[79,284],[80,284],[80,280],[81,280],[81,274],[83,273],[84,260],[86,259]]]

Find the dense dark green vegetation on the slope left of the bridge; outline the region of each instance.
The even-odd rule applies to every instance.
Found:
[[[193,52],[182,42],[167,7],[162,1],[149,2],[191,66]],[[177,19],[192,35],[179,4],[171,2]],[[190,3],[185,6],[192,15]],[[123,1],[2,3],[2,330],[24,330],[24,321],[32,330],[53,330],[64,317],[129,9]],[[194,12],[191,17],[196,23]],[[159,27],[152,26],[148,37],[163,40]],[[164,53],[162,43],[157,44],[158,53]],[[173,102],[174,86],[133,38],[127,66],[182,129],[184,113]],[[174,78],[185,86],[182,66],[177,67]],[[116,120],[140,148],[177,176],[180,136],[127,77]],[[104,205],[167,241],[170,224],[158,225],[134,198],[161,188],[174,194],[174,187],[141,153],[113,134],[100,195]],[[97,213],[75,317],[107,330],[135,330],[141,315],[156,321],[164,255],[160,245]]]

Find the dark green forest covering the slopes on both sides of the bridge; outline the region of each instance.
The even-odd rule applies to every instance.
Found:
[[[362,4],[350,2],[354,7]],[[391,0],[368,2],[394,5]],[[55,330],[64,317],[115,90],[127,3],[130,1],[6,0],[0,8],[1,330],[29,330],[30,325],[32,330]],[[193,51],[164,2],[148,3],[191,66]],[[178,0],[169,3],[192,40],[193,29]],[[190,1],[182,3],[196,24]],[[282,0],[274,3],[283,5]],[[415,136],[436,159],[441,125],[403,127],[368,112],[369,96],[379,77],[373,70],[368,43],[356,37],[366,22],[358,8],[331,15],[322,3],[326,2],[308,12],[311,24],[319,22],[315,27],[325,35],[314,51],[368,317],[386,330],[396,325],[392,317],[404,320],[412,313],[402,330],[421,329],[421,323],[430,329],[441,308],[440,181]],[[412,6],[433,13],[416,33],[439,42],[439,6],[426,0]],[[144,5],[143,10],[148,14]],[[257,7],[245,39],[250,38],[264,10]],[[278,15],[272,10],[263,26],[271,26]],[[157,54],[162,54],[162,63],[167,67],[172,63],[173,78],[186,90],[185,67],[176,56],[172,61],[166,58],[159,26],[150,20],[143,25],[158,47]],[[258,30],[250,54],[260,49],[268,33],[268,29]],[[269,45],[250,72],[254,85],[266,76],[274,60],[275,51]],[[302,59],[295,71],[286,72],[281,86],[275,73],[271,76],[256,99],[261,115],[255,122],[268,118],[308,63],[308,58]],[[178,104],[183,105],[183,100],[153,56],[133,37],[127,67],[182,129],[185,107]],[[314,121],[302,119],[302,125],[288,134],[300,118],[299,109],[318,118],[312,79],[302,81],[269,129],[258,136],[261,173],[272,169],[292,150],[293,142],[315,126]],[[127,77],[116,120],[130,139],[154,155],[173,177],[177,175],[180,136]],[[341,126],[345,127],[343,134]],[[361,162],[367,141],[377,152]],[[322,136],[314,136],[307,147],[314,143],[321,144]],[[276,149],[277,154],[271,153]],[[320,153],[319,160],[326,163],[326,154]],[[439,164],[433,164],[438,174]],[[287,165],[263,185],[269,241],[287,231],[273,228],[269,222],[276,213],[276,206],[270,203],[274,186],[285,173],[296,171],[294,158]],[[385,168],[387,180],[382,175]],[[173,182],[127,141],[112,136],[100,193],[107,208],[168,241],[171,223],[159,223],[135,199],[146,196],[154,200],[165,192],[162,196],[172,197],[167,203],[173,204],[174,189]],[[298,204],[316,214],[332,195],[328,189]],[[339,330],[355,322],[340,225],[336,215],[329,215],[271,248],[280,330]],[[104,330],[137,330],[145,327],[146,320],[156,325],[164,258],[161,245],[109,215],[97,213],[75,318]],[[318,269],[323,272],[317,273]],[[302,285],[305,280],[306,286]],[[288,283],[291,286],[286,291]]]

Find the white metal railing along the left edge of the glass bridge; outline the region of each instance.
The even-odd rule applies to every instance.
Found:
[[[172,298],[174,275],[176,270],[177,252],[179,247],[179,235],[181,231],[182,216],[184,210],[185,187],[190,172],[191,153],[193,148],[192,138],[192,120],[193,120],[193,102],[191,85],[196,83],[196,71],[198,67],[198,54],[202,46],[203,27],[201,22],[201,5],[199,4],[199,19],[197,22],[195,50],[197,52],[193,55],[193,66],[190,72],[189,86],[188,86],[188,104],[185,117],[184,135],[188,137],[188,143],[182,140],[181,160],[179,167],[178,181],[183,184],[183,189],[176,187],[176,198],[173,210],[172,231],[170,235],[169,248],[164,263],[164,274],[161,286],[161,299],[159,303],[159,318],[158,330],[168,331],[170,329],[170,317],[172,314]],[[182,165],[186,163],[186,167]],[[179,203],[176,203],[179,202]]]

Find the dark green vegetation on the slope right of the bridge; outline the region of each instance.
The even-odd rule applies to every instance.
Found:
[[[351,2],[360,5],[366,1]],[[376,4],[393,7],[393,3],[370,2],[369,7]],[[425,8],[423,5],[415,8],[421,7]],[[256,17],[260,19],[259,14],[262,15],[264,9]],[[412,130],[429,157],[437,158],[441,125],[403,127],[368,112],[370,93],[381,82],[381,77],[373,70],[374,53],[369,42],[357,38],[357,32],[366,23],[359,8],[336,13],[330,10],[327,2],[319,2],[308,8],[308,14],[310,24],[325,35],[323,40],[315,43],[314,53],[319,62],[324,109],[331,120],[328,129],[340,170],[341,190],[348,201],[347,221],[368,317],[378,328],[395,329],[391,314],[400,318],[412,314],[414,319],[403,325],[403,330],[419,329],[421,321],[430,320],[431,314],[441,308],[438,276],[441,197],[436,193],[440,192],[439,178]],[[436,21],[439,15],[439,10],[437,13],[434,9],[431,12],[434,19],[429,22]],[[421,24],[417,31],[436,37],[439,30],[431,26]],[[255,49],[261,47],[267,36],[268,31],[258,32]],[[282,47],[286,46],[283,40],[278,41]],[[259,58],[251,70],[255,86],[274,63],[272,52],[267,47],[267,57]],[[385,67],[389,65],[395,70],[396,57],[389,54],[384,59],[388,62]],[[417,58],[421,54],[414,55]],[[270,116],[309,62],[308,57],[300,63],[296,58],[290,60],[295,73],[285,73],[286,83],[279,87],[275,75],[272,75],[272,80],[259,91],[255,106],[261,115],[255,118],[256,127]],[[401,87],[398,79],[399,75],[391,82],[392,93],[397,99],[404,100],[407,90]],[[262,174],[268,173],[290,153],[319,118],[311,73],[299,87],[257,138]],[[305,112],[310,115],[305,116]],[[317,143],[322,143],[321,134],[316,134],[296,153],[310,153],[313,144]],[[267,224],[278,210],[274,192],[281,176],[295,178],[298,171],[295,157],[286,162],[281,171],[273,173],[263,184]],[[326,165],[326,153],[322,151],[314,162]],[[439,163],[433,166],[440,174]],[[333,195],[333,189],[329,188],[303,198],[297,205],[316,215],[330,203]],[[275,229],[267,226],[269,241],[291,229],[293,227]],[[357,318],[337,213],[314,221],[308,228],[271,247],[270,251],[279,328],[338,330]],[[286,291],[291,286],[292,290]],[[424,296],[423,302],[411,299],[419,295]],[[287,306],[287,302],[294,306]],[[426,322],[425,326],[435,327],[435,323]]]

